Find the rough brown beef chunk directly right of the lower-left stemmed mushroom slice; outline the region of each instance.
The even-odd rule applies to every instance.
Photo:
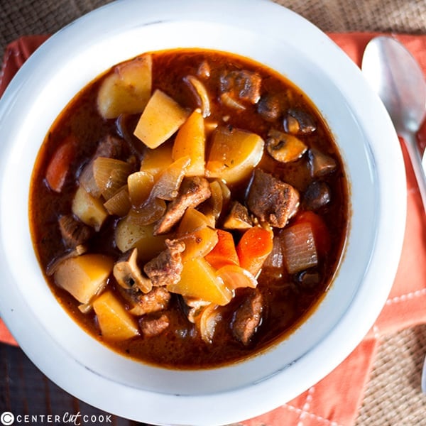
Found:
[[[185,243],[166,239],[165,244],[167,248],[143,267],[154,286],[178,283],[182,273],[180,253],[185,250]]]

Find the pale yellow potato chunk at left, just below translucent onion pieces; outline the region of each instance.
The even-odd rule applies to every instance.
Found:
[[[95,231],[101,229],[102,224],[108,217],[99,198],[92,197],[83,187],[79,187],[72,200],[72,213],[75,214],[84,224],[92,226]]]

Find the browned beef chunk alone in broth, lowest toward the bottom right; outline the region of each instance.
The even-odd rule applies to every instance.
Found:
[[[253,290],[236,310],[232,322],[232,334],[244,345],[250,343],[262,320],[263,297],[259,290]]]

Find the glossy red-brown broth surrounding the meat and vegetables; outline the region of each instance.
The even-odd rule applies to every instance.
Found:
[[[261,325],[249,345],[236,342],[229,333],[229,323],[234,308],[244,297],[246,292],[244,289],[238,290],[234,300],[224,307],[223,320],[216,327],[212,344],[203,342],[195,325],[187,320],[182,310],[180,297],[172,298],[168,308],[170,326],[162,334],[150,338],[136,337],[124,342],[104,342],[94,313],[82,314],[78,309],[79,303],[65,290],[58,288],[53,277],[46,274],[48,266],[56,258],[62,256],[66,250],[58,229],[58,218],[71,211],[72,196],[77,187],[77,176],[80,170],[91,158],[97,143],[104,136],[108,134],[120,136],[116,120],[102,119],[96,106],[99,83],[108,73],[84,87],[58,116],[40,149],[31,183],[30,221],[33,244],[40,266],[45,273],[45,279],[58,302],[77,324],[111,349],[149,364],[173,368],[210,368],[239,361],[279,342],[292,332],[315,309],[327,291],[342,256],[348,222],[347,182],[332,133],[310,99],[278,73],[251,60],[228,53],[200,50],[165,51],[153,53],[153,89],[162,89],[183,107],[195,109],[197,107],[196,99],[187,90],[185,84],[182,84],[182,78],[187,75],[195,75],[197,68],[204,60],[209,63],[212,70],[209,79],[204,82],[211,93],[216,92],[215,84],[223,70],[256,71],[262,77],[262,92],[282,94],[286,107],[302,109],[315,117],[317,131],[303,136],[303,140],[310,148],[318,148],[327,155],[332,155],[338,163],[337,170],[324,177],[331,188],[332,201],[318,212],[327,224],[332,243],[331,249],[321,259],[319,266],[322,275],[321,282],[312,288],[303,288],[297,283],[295,277],[290,276],[284,269],[278,278],[275,273],[263,269],[258,276],[258,289],[261,290],[265,300],[265,309]],[[222,122],[222,117],[227,115],[229,116],[227,124],[253,131],[265,139],[272,126],[282,130],[282,124],[280,124],[282,117],[273,122],[265,121],[256,112],[256,105],[250,105],[245,111],[236,112],[220,104],[217,97],[213,96],[212,99],[212,115],[209,117],[212,121]],[[136,124],[136,120],[137,117],[133,120],[134,124]],[[131,123],[131,120],[129,122]],[[77,139],[79,149],[77,157],[70,164],[65,186],[58,195],[46,185],[45,170],[55,148],[70,133]],[[131,154],[141,159],[143,144],[138,144],[137,141],[128,144],[126,155]],[[258,168],[271,172],[290,183],[299,190],[301,195],[311,180],[307,155],[303,155],[300,160],[293,163],[282,164],[273,160],[265,152]],[[245,185],[231,188],[232,197],[244,202],[245,189]],[[89,250],[91,252],[105,253],[114,258],[121,256],[121,252],[114,245],[116,223],[116,217],[107,219],[99,234],[90,242]],[[114,293],[117,293],[116,285],[114,278],[111,277],[108,287]],[[118,295],[118,297],[120,296]]]

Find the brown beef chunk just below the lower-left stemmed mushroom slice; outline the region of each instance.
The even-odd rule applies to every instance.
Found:
[[[171,298],[170,292],[164,286],[154,287],[149,293],[121,287],[119,292],[124,300],[129,303],[131,307],[129,312],[136,316],[164,310],[168,307]]]

